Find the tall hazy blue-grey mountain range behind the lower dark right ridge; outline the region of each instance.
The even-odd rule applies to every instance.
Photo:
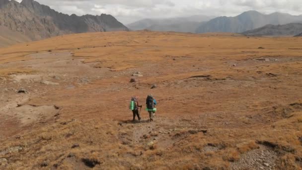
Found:
[[[257,11],[247,11],[235,17],[221,16],[208,22],[201,23],[196,33],[205,32],[234,32],[241,33],[260,28],[267,24],[280,25],[301,22],[302,15],[295,16],[287,13],[275,12],[262,14]]]

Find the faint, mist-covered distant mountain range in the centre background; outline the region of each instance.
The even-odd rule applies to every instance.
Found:
[[[176,31],[195,33],[195,30],[201,22],[209,21],[213,18],[215,17],[205,15],[193,15],[189,17],[175,17],[165,19],[142,19],[134,23],[128,24],[127,27],[131,30],[148,29],[151,31]]]

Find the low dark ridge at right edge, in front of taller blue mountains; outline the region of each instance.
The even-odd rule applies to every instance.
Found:
[[[302,23],[289,23],[285,25],[268,24],[261,28],[245,31],[248,36],[294,36],[302,32]]]

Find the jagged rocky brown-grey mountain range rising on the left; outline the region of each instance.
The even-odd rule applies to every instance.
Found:
[[[67,15],[34,0],[0,0],[0,26],[19,32],[30,40],[71,33],[127,31],[111,15]]]

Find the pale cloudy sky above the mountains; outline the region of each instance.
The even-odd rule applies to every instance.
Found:
[[[21,1],[21,0],[17,0]],[[243,11],[302,14],[301,0],[36,0],[68,14],[112,14],[128,24],[143,18],[235,16]]]

